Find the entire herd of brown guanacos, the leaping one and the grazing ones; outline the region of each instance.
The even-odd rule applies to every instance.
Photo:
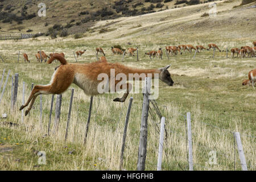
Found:
[[[234,55],[234,53],[238,53],[239,55],[242,55],[242,56],[245,55],[245,53],[248,53],[248,56],[249,55],[255,56],[255,53],[254,53],[255,44],[256,42],[253,42],[254,48],[251,48],[249,46],[241,47],[241,49],[232,48],[231,49],[232,56]],[[218,51],[221,52],[221,50],[216,46],[216,44],[209,44],[208,47],[209,48],[205,48],[203,46],[196,46],[195,48],[189,44],[189,45],[180,45],[180,46],[168,46],[166,47],[166,51],[168,52],[168,54],[170,53],[177,54],[178,52],[182,54],[181,50],[183,50],[183,52],[185,52],[185,50],[188,50],[189,52],[191,52],[192,49],[195,49],[197,51],[200,50],[201,52],[203,49],[209,50],[210,48],[214,48],[214,49],[218,49]],[[129,53],[130,56],[134,56],[134,51],[136,51],[137,49],[138,47],[128,48],[127,52]],[[76,52],[77,57],[81,56],[85,51],[86,50],[77,51]],[[49,58],[47,61],[47,64],[51,64],[53,60],[59,60],[60,65],[55,68],[55,72],[53,73],[52,79],[48,85],[34,86],[34,88],[30,93],[30,96],[28,97],[26,104],[20,106],[20,110],[24,109],[24,107],[27,107],[28,104],[30,104],[30,106],[28,107],[25,113],[25,115],[27,115],[31,110],[37,96],[39,96],[40,94],[61,94],[65,92],[65,90],[67,90],[72,83],[79,86],[79,88],[84,90],[85,94],[88,94],[90,96],[100,94],[98,93],[97,88],[101,80],[98,80],[97,77],[98,75],[100,75],[100,73],[106,73],[106,75],[110,77],[110,69],[115,69],[115,74],[123,73],[127,77],[129,76],[129,73],[133,73],[133,74],[144,73],[145,77],[147,77],[147,74],[151,74],[152,78],[154,78],[153,73],[159,73],[159,79],[161,81],[163,81],[169,86],[172,86],[174,84],[174,81],[171,78],[170,72],[168,72],[167,70],[171,65],[167,65],[166,67],[159,68],[159,69],[131,68],[118,63],[108,63],[103,49],[96,48],[96,53],[98,54],[98,52],[100,52],[100,54],[104,56],[101,56],[100,59],[98,59],[93,63],[71,64],[71,63],[68,63],[67,60],[65,60],[65,55],[63,52],[50,53],[49,56],[47,56],[44,51],[38,51],[38,53],[36,53],[35,55],[38,61],[40,61],[40,59],[41,60],[44,59],[45,61],[47,61],[47,58]],[[112,53],[123,54],[123,51],[119,48],[112,47]],[[163,51],[161,48],[159,48],[158,51],[150,51],[150,52],[146,52],[145,54],[150,55],[150,57],[151,56],[155,57],[157,55],[159,56],[160,59],[162,59]],[[28,60],[27,54],[24,53],[23,56],[24,56],[24,61],[25,62],[28,61],[30,63],[30,61]],[[249,79],[247,80],[243,80],[242,85],[252,85],[254,88],[254,84],[256,83],[256,68],[251,70],[248,73],[248,78]],[[143,78],[139,77],[139,79],[142,80]],[[125,102],[127,96],[129,95],[129,92],[131,91],[130,89],[132,88],[132,86],[130,83],[127,83],[126,88],[122,88],[121,86],[119,89],[117,89],[116,86],[119,82],[120,81],[115,81],[115,88],[114,88],[115,92],[118,92],[119,89],[121,90],[126,89],[126,93],[123,94],[122,98],[115,98],[113,101]]]

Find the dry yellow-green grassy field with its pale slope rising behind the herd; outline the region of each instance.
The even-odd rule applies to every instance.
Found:
[[[159,109],[166,117],[167,138],[164,140],[163,170],[188,170],[187,140],[184,115],[192,116],[193,162],[195,170],[241,170],[237,148],[234,149],[233,131],[241,134],[243,150],[249,170],[255,170],[255,107],[256,93],[252,87],[242,86],[247,73],[256,67],[255,57],[232,59],[230,51],[211,51],[196,54],[185,52],[174,57],[164,52],[163,60],[150,59],[144,52],[165,46],[179,44],[203,45],[216,43],[221,50],[232,47],[252,46],[255,36],[255,9],[246,9],[254,4],[240,6],[239,1],[217,2],[217,16],[201,17],[209,11],[209,3],[180,7],[154,14],[104,20],[96,22],[92,31],[81,39],[36,38],[27,40],[8,40],[0,42],[0,74],[10,69],[10,75],[19,73],[18,100],[10,109],[11,79],[0,106],[0,169],[1,170],[119,170],[122,133],[129,101],[123,104],[113,102],[121,93],[104,94],[94,97],[92,118],[88,140],[84,141],[90,96],[75,88],[71,122],[67,142],[64,141],[67,125],[71,90],[63,93],[59,130],[47,134],[51,96],[43,98],[43,118],[40,125],[39,98],[35,101],[30,115],[21,123],[22,82],[26,83],[26,99],[31,84],[48,84],[54,68],[59,63],[37,63],[35,53],[44,50],[64,52],[69,63],[75,63],[73,51],[86,49],[78,58],[79,63],[96,61],[95,48],[102,47],[110,63],[119,62],[130,67],[162,68],[172,64],[171,73],[174,86],[159,81]],[[109,32],[100,34],[101,28]],[[124,48],[139,48],[139,61],[135,57],[111,55],[110,47],[119,44]],[[130,45],[131,44],[131,45]],[[19,63],[17,63],[20,51]],[[24,63],[22,53],[28,54],[31,63]],[[6,74],[7,75],[7,74]],[[6,76],[4,77],[6,78]],[[5,79],[3,80],[5,81]],[[2,91],[2,90],[1,90]],[[133,97],[123,169],[137,167],[139,130],[141,126],[142,94]],[[56,100],[56,97],[55,97]],[[150,109],[148,119],[148,146],[146,170],[155,170],[158,159],[160,120]],[[52,123],[55,118],[53,105]],[[8,126],[13,122],[18,126]],[[217,127],[216,127],[217,126]],[[53,131],[53,125],[51,126]],[[236,147],[236,146],[235,146]],[[39,165],[38,151],[46,152],[46,165]],[[208,164],[209,152],[217,152],[217,164]],[[234,155],[236,162],[234,162]]]

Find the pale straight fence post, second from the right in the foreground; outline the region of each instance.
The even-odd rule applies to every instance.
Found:
[[[189,171],[193,171],[193,148],[192,148],[192,132],[191,132],[191,114],[187,113],[187,127],[188,127],[188,164]]]

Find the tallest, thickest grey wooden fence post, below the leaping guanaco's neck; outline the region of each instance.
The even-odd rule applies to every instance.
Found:
[[[138,151],[138,163],[137,170],[144,171],[145,170],[145,162],[147,155],[147,118],[148,118],[148,109],[149,109],[149,100],[148,97],[150,95],[150,87],[151,87],[151,78],[145,78],[144,85],[144,97],[143,97],[143,106],[142,106],[142,117],[141,117],[141,130],[140,130],[140,139],[139,139],[139,151]]]

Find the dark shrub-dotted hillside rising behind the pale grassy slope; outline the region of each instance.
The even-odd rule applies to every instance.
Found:
[[[180,3],[179,3],[180,2]],[[191,2],[191,3],[190,3]],[[176,0],[109,0],[109,1],[44,1],[46,17],[39,17],[39,1],[0,2],[0,27],[2,32],[46,33],[54,24],[67,28],[69,34],[86,32],[98,20],[137,16],[166,9],[189,6],[208,1]],[[176,5],[178,4],[178,5]]]

